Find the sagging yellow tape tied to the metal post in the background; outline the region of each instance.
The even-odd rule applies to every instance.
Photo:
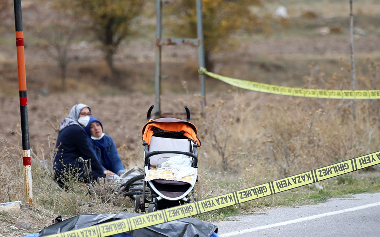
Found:
[[[198,70],[199,74],[206,74],[215,79],[221,80],[230,85],[248,89],[251,91],[259,91],[271,94],[280,94],[286,96],[302,96],[312,98],[326,99],[380,99],[380,90],[325,90],[325,89],[303,89],[291,88],[287,86],[269,85],[259,82],[251,82],[247,80],[239,80],[235,78],[225,77],[207,71],[205,68]]]

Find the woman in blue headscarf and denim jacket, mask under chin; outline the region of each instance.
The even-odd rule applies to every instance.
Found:
[[[87,141],[90,148],[97,156],[103,170],[108,171],[108,176],[117,178],[125,172],[123,163],[112,138],[103,132],[101,122],[90,116],[89,124],[84,128],[87,133]]]

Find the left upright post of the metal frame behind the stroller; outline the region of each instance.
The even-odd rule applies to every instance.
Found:
[[[155,72],[155,117],[161,114],[161,16],[162,3],[161,0],[156,0],[156,72]]]

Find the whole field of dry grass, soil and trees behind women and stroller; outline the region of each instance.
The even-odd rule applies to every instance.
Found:
[[[349,8],[340,0],[203,0],[207,69],[275,85],[351,89]],[[28,217],[38,230],[61,213],[130,210],[125,200],[114,205],[115,200],[84,198],[87,190],[80,185],[71,193],[55,187],[49,169],[53,128],[73,104],[89,104],[114,138],[123,164],[142,166],[141,127],[154,101],[155,1],[22,0],[22,14],[36,187],[35,205],[25,210]],[[354,0],[353,14],[356,89],[380,89],[380,2]],[[195,19],[195,1],[164,0],[162,37],[195,37]],[[13,1],[0,0],[0,113],[7,115],[0,121],[4,201],[24,195],[14,37]],[[163,111],[189,106],[202,140],[196,187],[201,199],[378,150],[378,100],[356,101],[353,121],[350,100],[256,93],[207,78],[203,118],[197,116],[197,71],[195,47],[162,47]],[[201,218],[378,191],[377,173],[361,170]],[[0,227],[15,218],[0,218]]]

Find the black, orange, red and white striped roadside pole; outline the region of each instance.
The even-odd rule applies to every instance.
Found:
[[[20,117],[21,117],[21,137],[22,137],[22,159],[24,164],[24,181],[26,201],[32,205],[32,167],[30,163],[29,145],[29,125],[28,125],[28,101],[26,96],[26,75],[25,75],[25,54],[24,54],[24,33],[22,32],[21,0],[13,0],[14,21],[16,25],[16,48],[17,66],[19,72],[19,93],[20,93]]]

